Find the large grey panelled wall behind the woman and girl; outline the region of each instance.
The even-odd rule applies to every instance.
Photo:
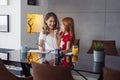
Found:
[[[93,39],[116,40],[120,52],[119,0],[48,0],[48,10],[63,17],[73,17],[80,51],[87,52]]]

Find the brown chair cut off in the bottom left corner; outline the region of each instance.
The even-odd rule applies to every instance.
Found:
[[[32,77],[17,77],[4,66],[3,61],[0,59],[0,80],[33,80]]]

